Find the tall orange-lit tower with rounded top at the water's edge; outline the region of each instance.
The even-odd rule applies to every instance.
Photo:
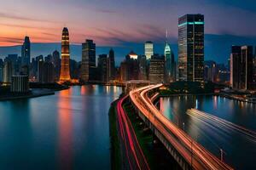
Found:
[[[61,77],[60,81],[68,82],[70,81],[70,71],[69,71],[69,34],[67,27],[63,28],[62,40],[61,40]]]

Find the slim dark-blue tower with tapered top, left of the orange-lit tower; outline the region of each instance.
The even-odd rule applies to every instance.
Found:
[[[30,64],[30,40],[29,37],[25,37],[23,45],[21,47],[21,65],[29,65]]]

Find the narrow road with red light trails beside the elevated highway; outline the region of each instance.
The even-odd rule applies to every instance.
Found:
[[[121,136],[121,144],[123,145],[123,150],[125,152],[128,167],[127,169],[149,169],[148,162],[143,155],[143,150],[140,147],[140,144],[137,141],[136,133],[131,125],[131,121],[123,109],[124,100],[128,96],[125,96],[122,99],[119,99],[116,111],[118,119],[119,133]],[[125,168],[125,169],[126,169]]]

